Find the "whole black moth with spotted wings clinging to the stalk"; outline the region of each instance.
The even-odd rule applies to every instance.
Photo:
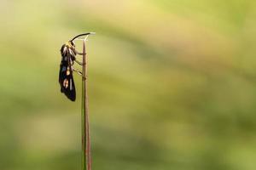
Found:
[[[73,80],[73,71],[79,73],[82,76],[82,72],[77,71],[73,68],[74,62],[79,65],[83,65],[83,63],[79,62],[76,59],[76,55],[80,54],[75,49],[75,43],[73,42],[77,37],[86,36],[90,33],[80,34],[79,36],[73,37],[72,40],[66,42],[61,46],[61,65],[59,71],[59,83],[61,86],[61,93],[65,94],[68,99],[75,101],[76,99],[76,88]]]

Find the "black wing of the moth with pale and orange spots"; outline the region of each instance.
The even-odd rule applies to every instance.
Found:
[[[63,47],[64,46],[64,47]],[[67,46],[63,45],[61,48],[61,65],[59,72],[59,83],[61,86],[61,93],[64,93],[68,99],[75,101],[76,89],[73,81],[73,54],[69,53]],[[67,51],[66,51],[67,49]]]

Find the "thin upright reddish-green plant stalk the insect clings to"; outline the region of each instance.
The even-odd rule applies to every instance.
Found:
[[[90,170],[90,126],[87,91],[87,54],[85,41],[83,40],[83,77],[82,77],[82,170]]]

